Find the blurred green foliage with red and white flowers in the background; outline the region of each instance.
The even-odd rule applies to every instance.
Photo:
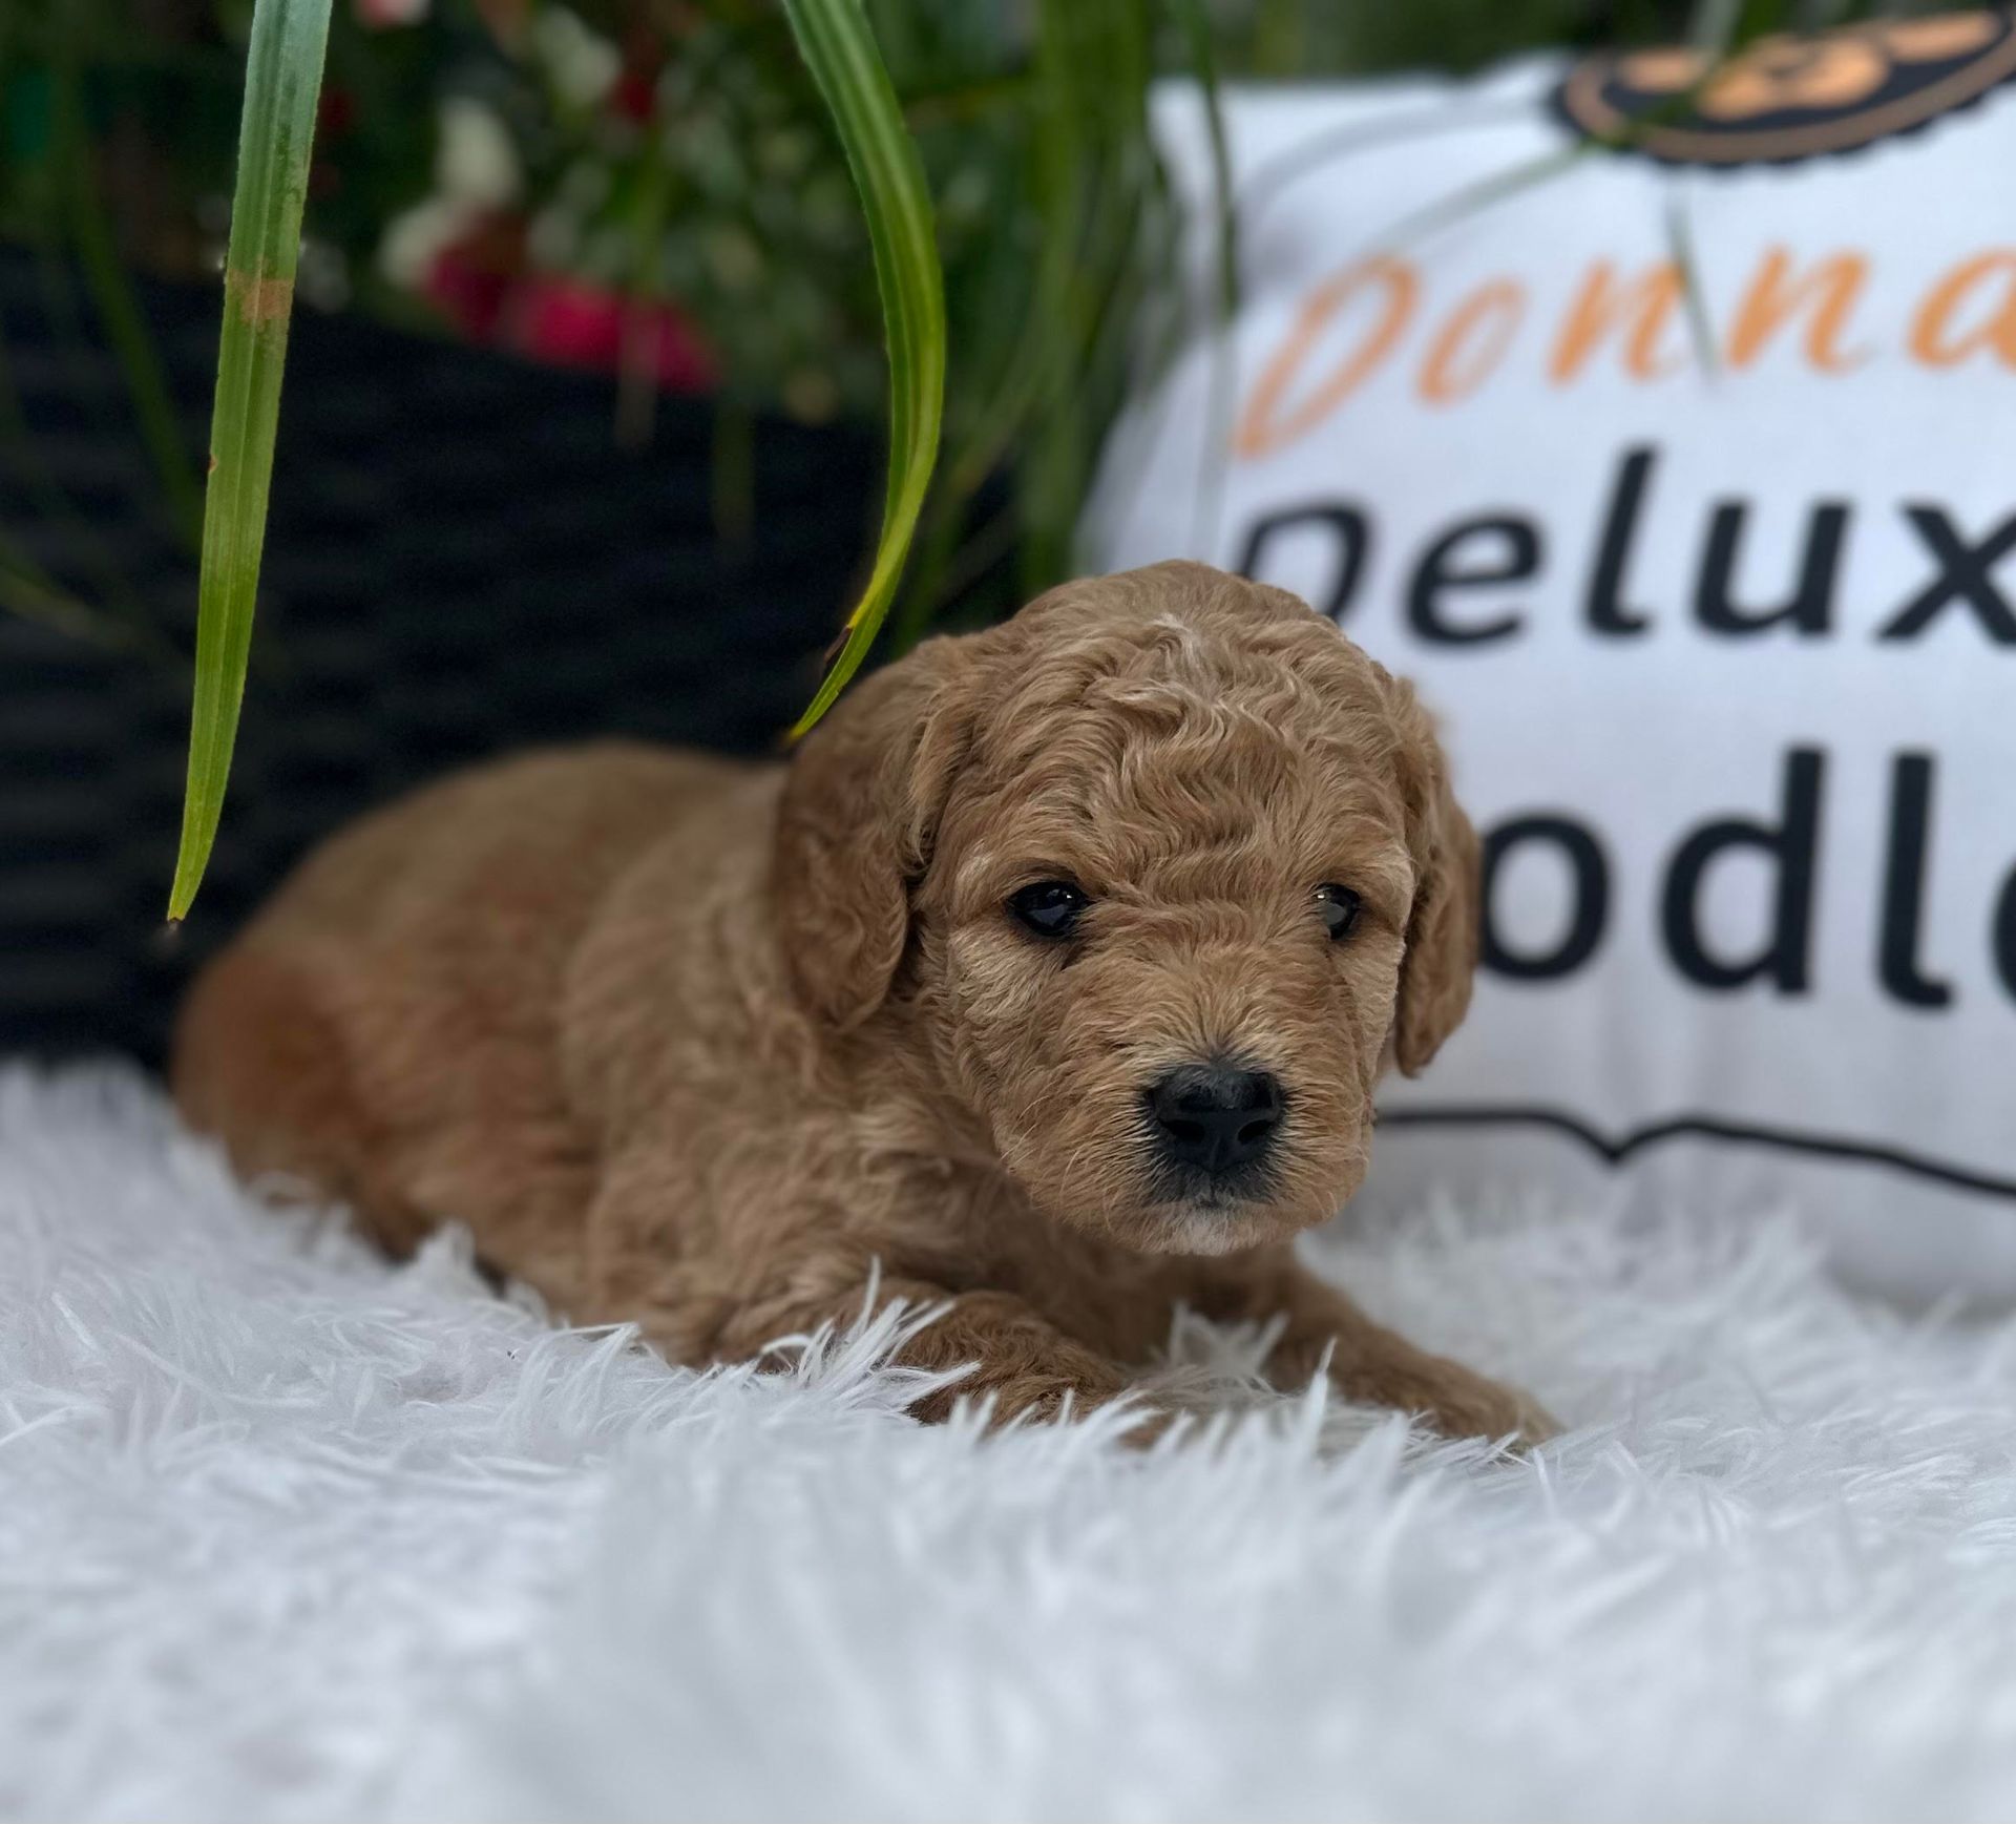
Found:
[[[1068,572],[1105,429],[1137,369],[1181,329],[1179,224],[1147,137],[1155,75],[1462,71],[1546,44],[1726,46],[1871,10],[865,4],[931,183],[952,347],[939,476],[897,617],[905,637],[976,576],[1026,593]],[[151,272],[214,274],[250,10],[0,0],[0,236],[67,248],[87,272],[97,246]],[[758,409],[881,417],[867,232],[776,0],[337,0],[306,220],[308,304],[439,322],[456,312],[435,284],[444,256],[464,292],[556,274],[677,312],[710,355],[730,429]],[[117,274],[99,270],[91,300],[113,327]],[[153,415],[157,445],[157,383],[145,347],[129,343],[119,355],[137,423]],[[619,423],[651,409],[651,383],[627,395]],[[185,482],[155,453],[185,518]],[[734,486],[722,496],[734,526]]]

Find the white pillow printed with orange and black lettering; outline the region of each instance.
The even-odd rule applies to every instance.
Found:
[[[1968,14],[1691,111],[1675,54],[1230,93],[1242,310],[1087,534],[1298,591],[1443,720],[1486,967],[1367,1195],[1677,1181],[2016,1296],[2012,69]]]

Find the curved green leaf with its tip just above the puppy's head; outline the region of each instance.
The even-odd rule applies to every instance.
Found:
[[[839,657],[790,732],[796,740],[833,707],[861,669],[917,532],[946,405],[946,276],[937,262],[923,163],[903,125],[861,0],[784,0],[784,12],[861,193],[889,349],[889,480],[875,568],[847,617]]]

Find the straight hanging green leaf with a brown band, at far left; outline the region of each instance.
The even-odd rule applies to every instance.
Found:
[[[204,492],[190,782],[169,919],[187,913],[202,885],[238,740],[329,4],[256,0],[252,8],[246,101],[238,125],[238,189],[224,256],[224,337],[210,419],[210,482]]]

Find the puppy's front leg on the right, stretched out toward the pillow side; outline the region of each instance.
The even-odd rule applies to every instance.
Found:
[[[1266,1284],[1266,1304],[1256,1316],[1280,1314],[1286,1330],[1268,1360],[1284,1387],[1304,1385],[1331,1360],[1331,1383],[1349,1401],[1417,1413],[1445,1437],[1518,1437],[1544,1443],[1560,1427],[1538,1401],[1415,1348],[1375,1324],[1343,1292],[1294,1264],[1284,1264]]]

